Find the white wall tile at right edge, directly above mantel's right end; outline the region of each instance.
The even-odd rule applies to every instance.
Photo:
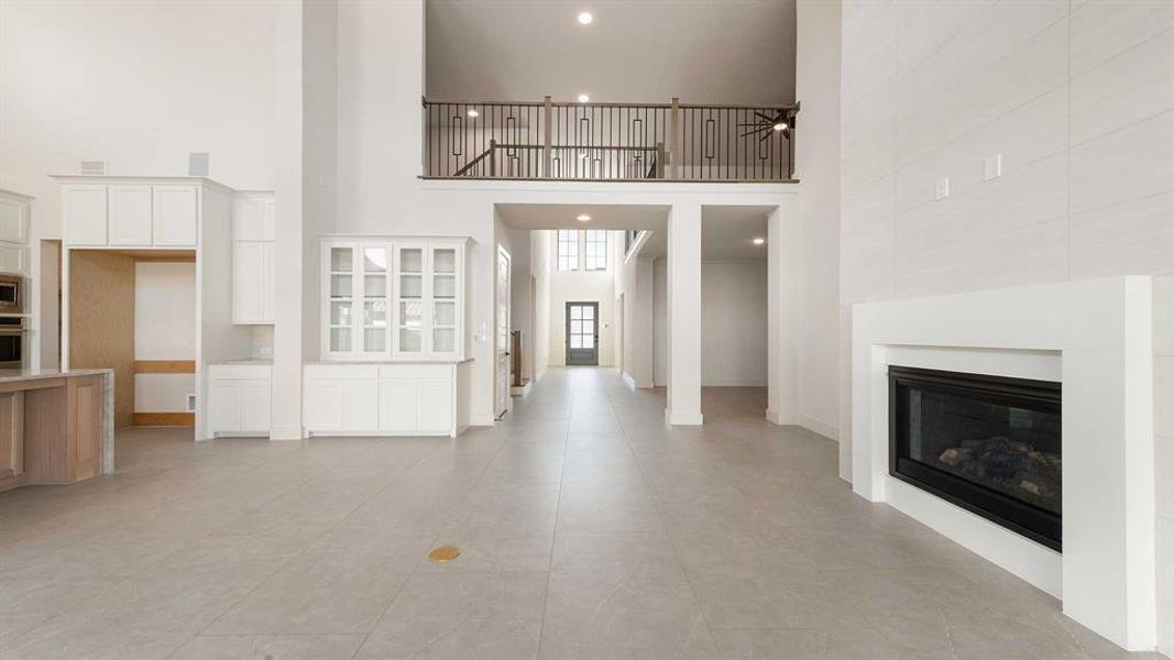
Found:
[[[1072,216],[1073,278],[1162,272],[1172,260],[1174,193]]]

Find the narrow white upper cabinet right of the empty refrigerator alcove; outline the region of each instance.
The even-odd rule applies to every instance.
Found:
[[[239,193],[232,202],[232,322],[274,322],[272,193]]]

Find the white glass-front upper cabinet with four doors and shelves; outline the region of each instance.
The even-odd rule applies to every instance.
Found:
[[[467,238],[325,238],[325,359],[461,359]]]

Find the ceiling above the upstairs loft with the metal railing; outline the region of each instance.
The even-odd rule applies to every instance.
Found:
[[[795,100],[795,0],[427,0],[426,28],[430,99]]]

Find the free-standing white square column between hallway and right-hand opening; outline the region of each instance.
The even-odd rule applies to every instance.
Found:
[[[664,420],[701,425],[701,204],[668,217],[668,408]]]

